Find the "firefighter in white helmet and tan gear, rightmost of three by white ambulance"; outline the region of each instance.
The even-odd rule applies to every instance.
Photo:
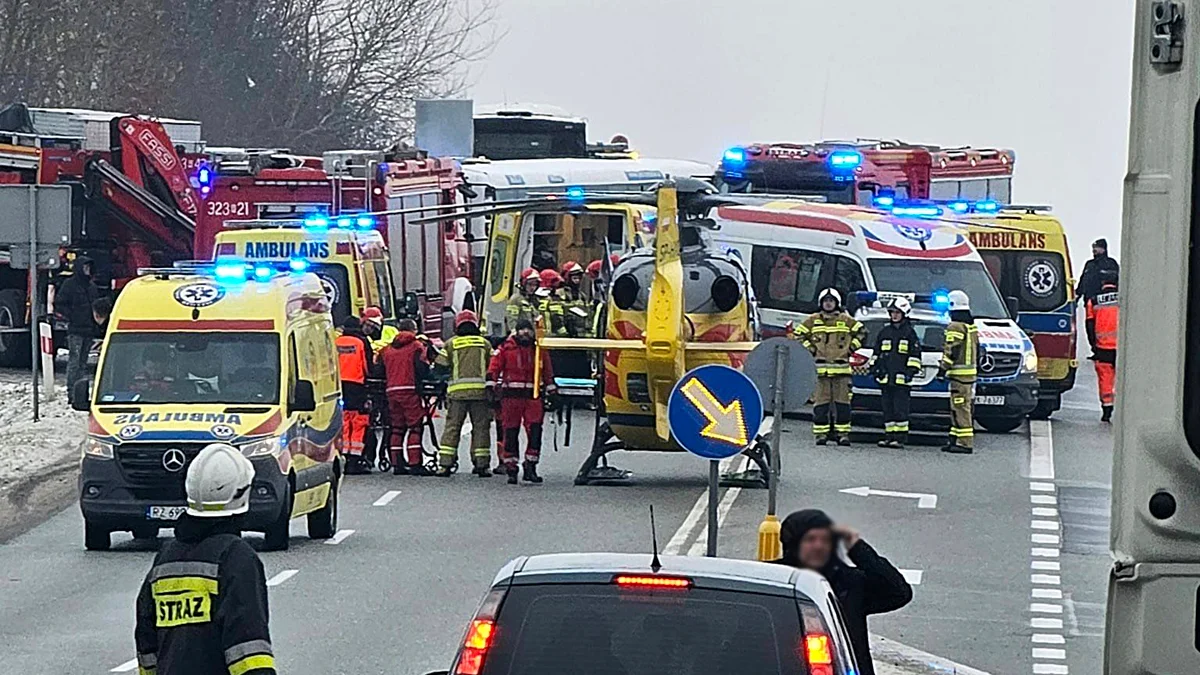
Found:
[[[950,438],[943,453],[974,452],[974,382],[979,358],[979,335],[971,316],[971,299],[962,291],[950,291],[950,323],[938,377],[950,383]]]

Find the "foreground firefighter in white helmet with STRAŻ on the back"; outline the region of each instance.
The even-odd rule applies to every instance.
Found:
[[[187,467],[187,510],[137,601],[139,675],[275,675],[266,575],[241,538],[254,466],[226,443]]]

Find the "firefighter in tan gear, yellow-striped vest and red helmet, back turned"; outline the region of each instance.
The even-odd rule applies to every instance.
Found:
[[[446,341],[445,350],[438,354],[437,365],[450,369],[450,383],[446,386],[446,424],[442,430],[442,442],[438,444],[438,471],[440,477],[448,477],[458,461],[458,441],[462,438],[462,423],[470,416],[470,458],[474,464],[472,473],[487,477],[492,471],[487,467],[492,456],[492,405],[488,402],[487,365],[492,358],[492,344],[479,334],[479,318],[475,312],[463,310],[455,317],[455,336]]]

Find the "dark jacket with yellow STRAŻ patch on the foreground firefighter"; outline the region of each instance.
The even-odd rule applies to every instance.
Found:
[[[142,583],[139,675],[274,675],[266,577],[234,533],[167,539]]]

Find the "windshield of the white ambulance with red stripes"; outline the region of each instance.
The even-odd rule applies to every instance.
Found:
[[[896,293],[964,291],[971,298],[971,313],[983,318],[1009,318],[1008,309],[991,276],[978,261],[894,259],[870,261],[875,287]]]

